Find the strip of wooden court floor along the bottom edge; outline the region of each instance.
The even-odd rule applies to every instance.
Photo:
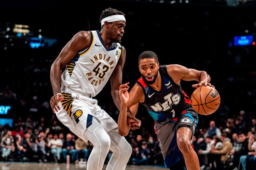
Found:
[[[0,162],[1,170],[86,170],[86,166],[66,163]],[[104,164],[103,169],[106,169]],[[125,170],[167,170],[163,166],[127,165]]]

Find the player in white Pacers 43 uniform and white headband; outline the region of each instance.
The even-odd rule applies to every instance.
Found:
[[[118,90],[126,56],[120,45],[124,16],[116,9],[105,9],[100,16],[101,31],[75,34],[51,66],[52,111],[79,138],[92,142],[88,170],[102,169],[109,150],[113,154],[106,169],[125,169],[132,153],[116,122],[93,99],[110,78],[111,93],[120,110]]]

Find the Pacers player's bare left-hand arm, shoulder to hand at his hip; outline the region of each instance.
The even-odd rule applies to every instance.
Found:
[[[90,31],[80,31],[76,33],[72,39],[62,48],[60,54],[51,65],[50,80],[53,90],[53,96],[51,97],[50,104],[53,113],[60,110],[59,102],[64,99],[64,96],[59,94],[60,81],[62,68],[66,66],[78,52],[86,49],[91,42]]]

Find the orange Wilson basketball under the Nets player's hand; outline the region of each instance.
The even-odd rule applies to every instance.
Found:
[[[210,86],[198,87],[191,95],[191,105],[201,115],[210,115],[220,106],[219,92]]]

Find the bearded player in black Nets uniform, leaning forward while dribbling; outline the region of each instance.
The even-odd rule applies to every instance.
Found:
[[[196,80],[192,87],[210,86],[210,76],[205,71],[188,69],[181,65],[159,66],[158,58],[152,51],[143,52],[138,58],[141,78],[128,93],[129,82],[119,88],[121,111],[118,130],[126,136],[130,129],[141,125],[127,121],[136,115],[138,104],[144,105],[155,121],[155,133],[160,143],[165,167],[199,170],[199,161],[191,145],[198,116],[191,106],[190,98],[180,86],[180,81]],[[128,122],[128,123],[127,123]]]

